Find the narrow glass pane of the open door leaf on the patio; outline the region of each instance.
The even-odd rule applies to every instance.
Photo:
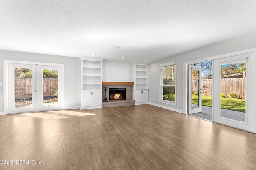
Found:
[[[199,71],[191,71],[191,108],[199,107]]]

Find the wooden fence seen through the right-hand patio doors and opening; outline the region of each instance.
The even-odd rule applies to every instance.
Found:
[[[192,93],[198,92],[198,80],[192,80]],[[245,98],[245,78],[222,78],[221,79],[221,93],[225,96],[230,96],[234,92]],[[202,95],[212,96],[212,79],[202,80]]]

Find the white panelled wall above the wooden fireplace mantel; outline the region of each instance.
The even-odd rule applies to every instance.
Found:
[[[132,63],[103,60],[103,82],[132,82]]]

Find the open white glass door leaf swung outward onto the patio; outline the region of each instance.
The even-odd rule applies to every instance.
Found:
[[[202,111],[202,68],[188,65],[188,114]]]

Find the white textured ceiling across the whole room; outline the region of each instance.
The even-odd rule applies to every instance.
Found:
[[[153,62],[254,31],[256,0],[0,0],[3,50]]]

